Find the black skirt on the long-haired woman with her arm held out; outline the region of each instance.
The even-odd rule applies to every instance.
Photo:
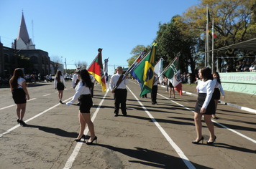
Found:
[[[91,107],[93,107],[93,100],[91,99],[91,94],[80,95],[78,98],[80,102],[79,110],[81,113],[90,113]]]

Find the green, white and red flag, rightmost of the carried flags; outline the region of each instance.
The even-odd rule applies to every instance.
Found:
[[[168,79],[170,79],[170,82],[173,84],[173,87],[175,87],[175,90],[177,90],[181,96],[182,84],[180,78],[180,63],[178,62],[178,57],[175,57],[173,59],[172,64],[170,64],[170,66],[165,70],[164,74]]]

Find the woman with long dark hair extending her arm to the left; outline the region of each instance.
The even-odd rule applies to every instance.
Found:
[[[78,79],[81,79],[80,82],[78,82],[76,86],[76,94],[73,96],[72,100],[70,102],[67,102],[66,105],[71,105],[73,102],[75,102],[77,99],[80,102],[79,107],[79,113],[78,113],[78,119],[80,122],[80,132],[78,137],[76,138],[76,142],[80,141],[81,138],[86,138],[86,136],[83,134],[84,130],[86,129],[86,123],[88,125],[88,129],[91,133],[91,137],[86,142],[87,145],[91,145],[93,141],[95,140],[97,143],[97,137],[94,133],[94,125],[91,121],[91,115],[90,110],[93,105],[93,100],[91,99],[91,78],[86,69],[79,69],[77,72]]]

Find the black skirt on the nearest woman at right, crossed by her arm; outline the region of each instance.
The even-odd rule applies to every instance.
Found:
[[[204,105],[204,100],[206,100],[206,93],[198,93],[198,98],[196,101],[195,112],[200,113],[201,107]],[[215,114],[215,102],[214,97],[211,97],[209,105],[206,108],[205,115]]]

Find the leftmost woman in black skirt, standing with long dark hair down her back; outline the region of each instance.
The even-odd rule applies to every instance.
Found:
[[[12,90],[12,98],[17,105],[17,122],[22,126],[26,125],[23,117],[26,111],[26,102],[29,100],[29,92],[27,92],[27,84],[22,69],[17,68],[14,70],[14,75],[10,79],[9,84]]]

